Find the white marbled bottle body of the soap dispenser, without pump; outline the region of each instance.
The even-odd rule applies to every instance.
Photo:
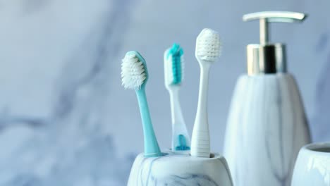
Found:
[[[234,185],[290,185],[296,156],[309,142],[304,107],[292,75],[239,78],[224,145]]]

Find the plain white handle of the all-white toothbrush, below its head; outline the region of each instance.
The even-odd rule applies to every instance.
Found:
[[[200,92],[198,97],[197,113],[193,129],[191,156],[209,157],[209,123],[207,117],[207,91],[209,87],[209,64],[200,69]]]

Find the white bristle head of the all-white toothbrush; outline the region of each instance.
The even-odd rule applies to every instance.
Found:
[[[221,54],[218,32],[205,28],[196,39],[196,57],[205,61],[216,61]]]

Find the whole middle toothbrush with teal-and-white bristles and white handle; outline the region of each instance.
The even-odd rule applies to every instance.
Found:
[[[173,44],[164,52],[165,87],[169,90],[172,116],[172,151],[189,153],[190,137],[179,101],[179,90],[183,80],[183,49]]]

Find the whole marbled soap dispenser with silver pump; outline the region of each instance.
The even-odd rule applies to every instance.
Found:
[[[287,72],[285,44],[270,43],[268,31],[269,23],[305,17],[283,11],[243,16],[259,20],[260,44],[247,45],[247,74],[238,79],[227,120],[224,156],[236,186],[290,185],[299,149],[310,142],[300,92]]]

